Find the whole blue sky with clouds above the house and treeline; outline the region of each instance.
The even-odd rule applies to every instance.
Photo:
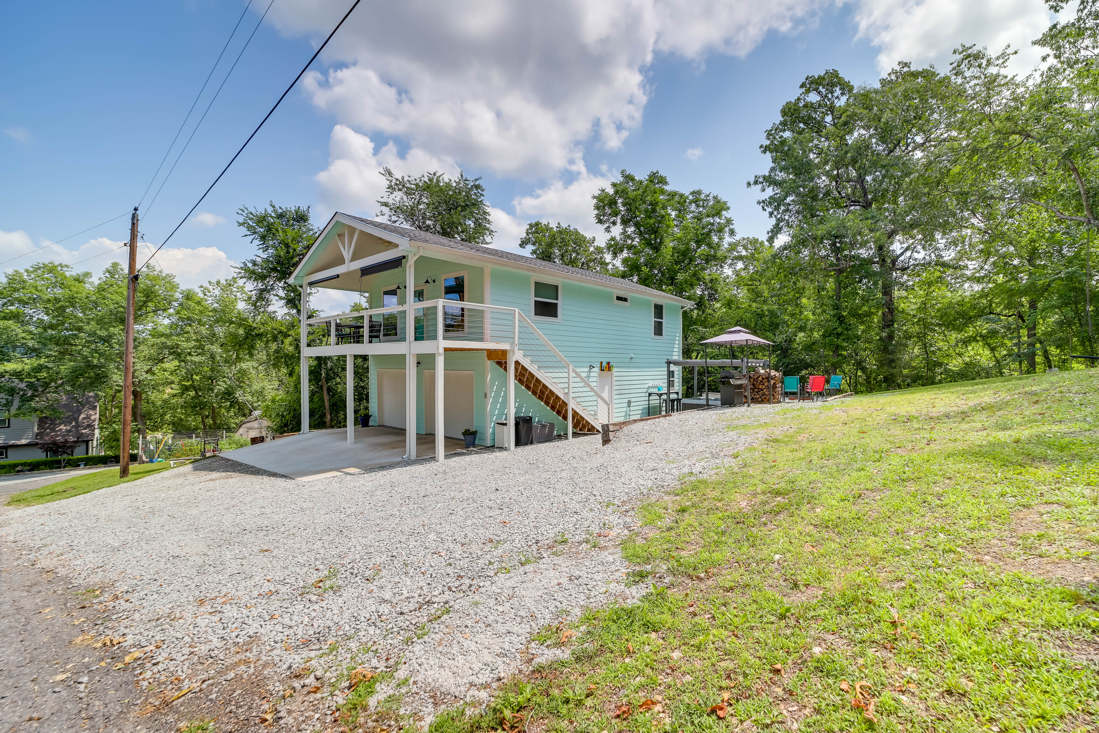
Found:
[[[186,140],[269,0],[245,13]],[[152,209],[179,149],[142,204],[158,244],[229,160],[347,0],[275,0]],[[0,260],[99,271],[122,252],[127,212],[153,177],[241,0],[21,3],[5,12],[0,64]],[[690,3],[519,0],[371,3],[314,64],[158,262],[193,286],[252,254],[242,206],[310,204],[373,215],[377,169],[482,176],[497,245],[534,219],[589,232],[590,196],[625,168],[726,199],[741,234],[769,222],[745,182],[758,146],[809,74],[873,82],[906,58],[943,67],[959,42],[1024,47],[1048,15],[1040,0],[775,0]],[[331,73],[334,71],[334,75]],[[180,141],[180,142],[181,142]],[[389,147],[386,147],[389,145]],[[688,154],[688,151],[696,151]],[[147,210],[147,211],[146,211]],[[86,257],[100,256],[87,262]]]

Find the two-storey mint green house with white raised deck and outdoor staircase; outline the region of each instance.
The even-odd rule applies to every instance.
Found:
[[[407,458],[417,434],[434,434],[440,460],[444,436],[466,429],[479,444],[513,447],[497,423],[517,415],[568,437],[643,417],[654,385],[678,382],[667,360],[681,358],[691,307],[629,280],[343,213],[290,282],[302,288],[302,395],[309,357],[346,356],[351,380],[352,357],[367,355],[370,423],[404,430]],[[357,292],[365,310],[307,319],[311,288]],[[308,411],[303,397],[302,433]]]

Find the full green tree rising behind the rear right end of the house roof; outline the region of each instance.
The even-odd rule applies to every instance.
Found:
[[[592,198],[621,277],[693,300],[698,312],[718,299],[736,234],[722,198],[677,191],[658,170],[644,178],[623,170]]]

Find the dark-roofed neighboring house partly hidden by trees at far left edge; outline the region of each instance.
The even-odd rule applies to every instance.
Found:
[[[76,441],[74,456],[88,456],[99,448],[99,401],[67,395],[57,406],[59,418],[0,418],[0,460],[56,458],[38,449],[45,441]]]

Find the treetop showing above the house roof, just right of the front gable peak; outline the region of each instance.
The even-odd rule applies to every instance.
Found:
[[[378,204],[395,224],[471,244],[492,242],[496,232],[480,177],[466,178],[460,170],[454,178],[437,170],[398,176],[388,167],[381,169],[381,177],[386,198],[378,199]]]

